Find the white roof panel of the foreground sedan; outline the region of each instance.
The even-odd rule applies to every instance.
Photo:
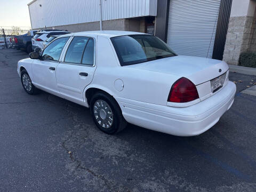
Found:
[[[66,34],[63,36],[83,36],[83,35],[101,35],[106,37],[116,37],[123,35],[148,35],[145,33],[133,32],[133,31],[118,31],[118,30],[98,30],[98,31],[82,31],[77,33]],[[63,37],[62,36],[62,37]]]

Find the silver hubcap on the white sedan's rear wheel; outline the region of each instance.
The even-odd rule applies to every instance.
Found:
[[[103,128],[108,129],[113,125],[113,112],[106,101],[97,100],[93,105],[93,112],[96,121]]]

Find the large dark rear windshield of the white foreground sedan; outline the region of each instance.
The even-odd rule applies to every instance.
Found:
[[[158,37],[152,35],[125,35],[112,37],[121,66],[153,61],[176,54]]]

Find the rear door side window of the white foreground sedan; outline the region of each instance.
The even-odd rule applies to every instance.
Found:
[[[93,65],[94,41],[90,37],[74,37],[70,43],[64,62]]]

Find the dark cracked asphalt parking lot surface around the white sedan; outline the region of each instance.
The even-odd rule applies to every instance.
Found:
[[[89,109],[17,74],[25,52],[0,50],[0,191],[256,191],[256,76],[230,73],[233,106],[209,131],[175,137],[129,125],[102,133]]]

